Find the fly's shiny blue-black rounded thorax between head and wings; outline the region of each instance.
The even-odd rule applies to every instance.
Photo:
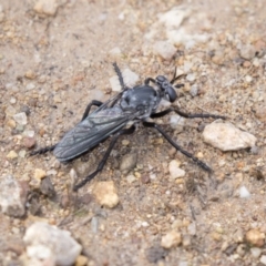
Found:
[[[160,101],[161,96],[154,88],[140,85],[123,93],[120,106],[124,112],[139,113],[142,119],[149,117],[157,109]]]

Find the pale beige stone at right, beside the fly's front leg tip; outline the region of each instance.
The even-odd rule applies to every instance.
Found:
[[[231,123],[213,122],[205,126],[204,141],[222,151],[238,151],[241,149],[255,146],[257,139],[241,131]]]

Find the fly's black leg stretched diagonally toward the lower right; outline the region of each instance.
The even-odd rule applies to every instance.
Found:
[[[184,155],[186,155],[187,157],[190,157],[191,160],[193,160],[197,165],[200,165],[203,170],[207,171],[207,172],[212,172],[212,168],[209,166],[207,166],[204,162],[202,162],[201,160],[198,160],[197,157],[193,156],[191,153],[186,152],[185,150],[183,150],[180,145],[177,145],[177,143],[175,143],[171,136],[163,130],[161,129],[161,126],[158,126],[156,123],[152,123],[152,122],[143,122],[144,126],[147,127],[153,127],[156,131],[158,131],[164,137],[165,140],[173,146],[175,147],[177,151],[180,151],[181,153],[183,153]]]

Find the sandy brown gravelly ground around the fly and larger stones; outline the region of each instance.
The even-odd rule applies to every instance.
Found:
[[[266,265],[263,1],[57,4],[48,14],[34,10],[31,0],[1,1],[0,176],[13,175],[29,186],[22,218],[0,214],[1,265],[28,264],[22,237],[40,219],[71,232],[82,244],[83,265]],[[183,39],[174,43],[172,59],[163,60],[153,48],[171,39],[161,18],[174,8],[187,14],[178,27],[183,33],[176,33]],[[109,141],[63,165],[52,153],[29,157],[32,137],[24,137],[33,131],[35,147],[55,144],[81,120],[91,100],[113,94],[109,79],[114,61],[137,73],[140,82],[157,74],[172,76],[177,66],[190,78],[181,81],[185,86],[174,105],[190,113],[226,115],[257,137],[257,147],[221,152],[203,142],[202,120],[174,131],[163,117],[158,122],[166,132],[211,165],[213,174],[176,153],[154,130],[140,126],[121,137],[102,173],[73,193],[75,174],[81,180],[93,171]],[[12,116],[20,112],[28,114],[22,126]],[[126,154],[136,154],[137,164],[124,174],[120,163]],[[174,158],[185,171],[176,180],[168,173]],[[55,195],[40,192],[37,168],[50,177]],[[93,196],[93,185],[102,181],[114,183],[120,200],[114,208],[101,206]],[[241,187],[250,196],[241,198]],[[181,237],[171,248],[162,247],[167,234]]]

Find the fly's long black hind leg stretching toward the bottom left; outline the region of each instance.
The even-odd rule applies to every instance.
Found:
[[[81,188],[83,185],[85,185],[88,182],[90,182],[98,173],[100,173],[103,170],[103,167],[104,167],[104,165],[105,165],[105,163],[106,163],[106,161],[108,161],[116,141],[119,140],[119,137],[121,135],[132,134],[134,131],[135,131],[135,125],[132,125],[130,129],[121,130],[116,134],[114,134],[114,136],[112,137],[111,143],[109,145],[109,149],[106,150],[102,161],[99,163],[96,170],[93,173],[91,173],[90,175],[88,175],[79,184],[76,184],[73,187],[73,191],[76,192],[79,188]]]

